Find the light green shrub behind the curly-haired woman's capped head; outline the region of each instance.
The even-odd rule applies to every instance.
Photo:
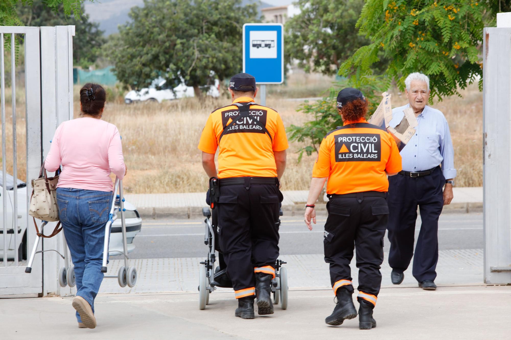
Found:
[[[365,85],[358,88],[369,102],[367,110],[367,118],[369,118],[380,104],[381,94],[385,91],[384,89],[389,88],[390,83],[388,78],[383,76],[364,76],[363,83]],[[306,143],[305,147],[298,150],[298,162],[304,152],[309,156],[313,152],[318,152],[323,137],[329,131],[342,126],[342,119],[337,111],[337,93],[345,87],[350,87],[349,80],[337,83],[322,100],[305,102],[298,108],[297,111],[302,111],[312,118],[303,126],[291,125],[287,129],[289,140]]]

